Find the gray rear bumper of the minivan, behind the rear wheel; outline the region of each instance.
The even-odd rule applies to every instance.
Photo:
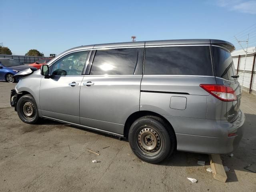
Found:
[[[245,120],[242,111],[233,123],[226,120],[164,117],[176,133],[177,150],[205,154],[227,154],[235,150],[242,138]],[[230,133],[236,136],[228,137]]]

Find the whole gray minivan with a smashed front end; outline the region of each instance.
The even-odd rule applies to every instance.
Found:
[[[226,154],[245,120],[233,50],[212,39],[72,48],[41,70],[16,74],[11,106],[29,124],[48,118],[128,137],[150,163],[174,150]]]

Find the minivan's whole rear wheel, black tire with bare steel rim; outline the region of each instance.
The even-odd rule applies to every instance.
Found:
[[[128,138],[134,154],[148,163],[159,163],[168,158],[176,144],[172,128],[156,116],[144,116],[134,121]]]

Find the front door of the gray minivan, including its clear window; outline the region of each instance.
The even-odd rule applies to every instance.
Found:
[[[40,84],[42,116],[80,124],[79,94],[87,55],[88,51],[70,53],[52,64],[52,77],[42,78]]]

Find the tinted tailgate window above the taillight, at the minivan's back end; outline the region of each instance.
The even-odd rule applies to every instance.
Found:
[[[215,75],[227,80],[234,80],[231,76],[235,75],[234,63],[228,50],[212,46]]]

